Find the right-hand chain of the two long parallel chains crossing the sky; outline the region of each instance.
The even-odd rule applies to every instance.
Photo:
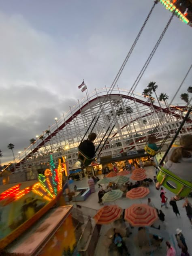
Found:
[[[171,15],[171,17],[170,17],[168,23],[166,24],[166,26],[165,26],[165,28],[164,28],[164,30],[163,30],[163,32],[162,32],[162,34],[160,35],[160,38],[158,39],[156,45],[154,46],[154,49],[151,51],[151,53],[150,53],[150,55],[149,55],[149,58],[148,58],[147,61],[145,62],[145,64],[144,64],[143,68],[141,69],[141,71],[140,71],[140,73],[139,73],[137,79],[134,81],[134,84],[132,85],[130,91],[134,92],[135,88],[137,87],[139,81],[141,80],[141,77],[143,76],[143,74],[145,73],[145,70],[147,69],[147,66],[149,65],[149,62],[150,62],[151,59],[153,58],[154,53],[156,52],[158,46],[160,45],[160,42],[161,42],[161,40],[162,40],[164,34],[166,33],[166,30],[168,29],[168,27],[169,27],[169,25],[170,25],[170,23],[171,23],[171,21],[172,21],[174,15],[175,15],[175,13],[173,13],[173,14]],[[129,93],[130,93],[130,92],[129,92]],[[128,94],[129,94],[129,93],[128,93]],[[132,94],[132,93],[131,93],[131,94]]]

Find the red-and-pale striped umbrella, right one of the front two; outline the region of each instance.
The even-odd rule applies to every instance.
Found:
[[[158,220],[155,208],[145,204],[134,204],[125,210],[124,219],[132,226],[144,227],[151,226]]]

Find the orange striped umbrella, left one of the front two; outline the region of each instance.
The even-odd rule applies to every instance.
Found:
[[[105,205],[94,216],[97,224],[109,224],[118,220],[122,214],[122,209],[117,205]]]

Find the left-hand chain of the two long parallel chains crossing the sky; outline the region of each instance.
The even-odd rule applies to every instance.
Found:
[[[149,14],[147,15],[147,18],[145,19],[145,22],[143,23],[143,26],[141,27],[137,37],[134,40],[134,43],[132,44],[132,47],[130,48],[130,50],[129,50],[129,52],[128,52],[128,54],[127,54],[127,56],[126,56],[126,58],[125,58],[125,60],[124,60],[124,62],[122,64],[122,66],[120,67],[120,69],[119,69],[115,79],[113,80],[113,83],[111,84],[111,87],[109,88],[109,91],[108,91],[109,94],[113,91],[113,89],[114,89],[114,87],[115,87],[115,85],[116,85],[120,75],[122,74],[122,71],[124,70],[124,67],[126,66],[126,63],[128,62],[128,59],[130,58],[130,55],[131,55],[134,47],[136,46],[137,41],[139,40],[139,37],[141,36],[141,33],[143,32],[143,29],[145,28],[145,25],[146,25],[149,17],[151,16],[151,13],[154,10],[154,7],[156,6],[157,3],[158,3],[158,0],[154,1],[154,4],[153,4],[151,10],[149,11]]]

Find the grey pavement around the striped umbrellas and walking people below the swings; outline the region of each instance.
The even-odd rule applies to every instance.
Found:
[[[146,174],[147,177],[153,178],[153,175],[155,174],[155,169],[153,166],[145,167],[146,169]],[[128,175],[130,177],[130,175]],[[99,178],[102,178],[99,176]],[[132,181],[130,179],[130,181]],[[134,181],[132,181],[134,182]],[[83,178],[81,181],[74,181],[72,184],[70,184],[71,190],[73,190],[74,185],[76,184],[77,188],[85,188],[88,187],[87,184],[87,177]],[[81,210],[83,212],[89,213],[91,217],[96,214],[97,210],[102,207],[102,205],[98,204],[98,191],[100,188],[98,188],[98,185],[95,185],[96,192],[92,193],[85,202],[78,202],[78,205],[81,205]],[[103,185],[103,188],[105,189],[105,185]],[[155,207],[158,209],[161,209],[161,198],[160,198],[160,191],[157,191],[155,189],[154,183],[149,185],[149,190],[150,193],[147,195],[145,198],[141,199],[136,199],[136,200],[131,200],[128,198],[120,198],[117,201],[114,202],[115,205],[119,205],[119,207],[122,207],[123,209],[130,207],[133,203],[147,203],[147,198],[150,197],[152,203],[154,203]],[[179,212],[181,214],[181,218],[177,218],[175,213],[173,212],[172,207],[169,205],[169,200],[173,196],[171,192],[166,190],[166,196],[168,197],[168,209],[165,209],[162,207],[162,211],[165,214],[165,222],[162,224],[160,221],[156,223],[161,225],[161,229],[165,230],[169,233],[170,236],[172,236],[173,239],[170,240],[171,244],[175,244],[175,249],[178,256],[181,255],[181,250],[177,246],[177,242],[175,239],[175,233],[176,229],[180,228],[182,230],[182,233],[184,237],[186,238],[186,244],[188,245],[188,252],[190,255],[192,255],[192,243],[191,243],[191,237],[192,237],[192,225],[190,224],[190,221],[188,220],[188,217],[186,215],[186,210],[185,208],[182,207],[183,205],[183,200],[177,202],[177,206],[179,209]],[[189,198],[189,201],[192,203],[192,199]],[[113,204],[113,203],[110,203]],[[107,205],[107,204],[106,204]],[[127,226],[129,226],[128,223],[126,223]],[[100,232],[100,238],[96,247],[96,251],[94,256],[115,256],[117,255],[115,252],[112,252],[112,254],[109,254],[108,248],[105,247],[104,241],[106,239],[105,234],[109,228],[112,228],[114,225],[102,225],[101,232]],[[141,250],[135,245],[134,243],[134,237],[137,235],[138,228],[133,228],[132,230],[132,235],[129,238],[126,238],[126,246],[128,247],[128,250],[130,252],[130,255],[136,255],[136,256],[143,256],[147,254],[142,254]],[[165,245],[165,240],[162,242],[162,247],[156,251],[153,252],[153,254],[148,254],[148,255],[154,255],[154,256],[166,256],[166,245]]]

